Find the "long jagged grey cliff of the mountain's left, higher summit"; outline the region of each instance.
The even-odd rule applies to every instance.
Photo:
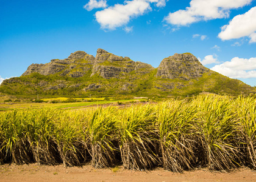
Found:
[[[84,51],[71,53],[66,59],[52,59],[46,64],[31,64],[24,75],[40,73],[52,75],[59,73],[61,76],[81,77],[91,71],[91,75],[100,75],[103,78],[118,78],[133,70],[138,73],[148,73],[154,67],[143,62],[132,61],[129,57],[121,57],[108,53],[103,49],[97,50],[97,55],[88,55]]]

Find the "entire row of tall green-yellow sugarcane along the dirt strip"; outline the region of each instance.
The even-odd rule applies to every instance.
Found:
[[[207,166],[256,169],[256,100],[198,96],[96,110],[0,113],[0,163],[174,172]]]

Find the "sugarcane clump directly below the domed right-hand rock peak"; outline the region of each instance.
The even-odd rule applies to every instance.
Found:
[[[162,166],[173,172],[193,169],[196,144],[193,126],[196,107],[186,101],[168,101],[158,105],[157,129]]]

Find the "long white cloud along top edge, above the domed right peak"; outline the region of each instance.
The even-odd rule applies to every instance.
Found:
[[[243,7],[250,2],[252,0],[192,0],[190,7],[169,13],[165,21],[174,25],[189,25],[202,20],[227,18],[231,9]]]

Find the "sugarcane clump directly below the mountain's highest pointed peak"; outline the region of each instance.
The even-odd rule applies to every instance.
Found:
[[[87,135],[90,142],[92,165],[96,168],[110,167],[116,162],[115,109],[102,107],[95,110],[88,121]]]

